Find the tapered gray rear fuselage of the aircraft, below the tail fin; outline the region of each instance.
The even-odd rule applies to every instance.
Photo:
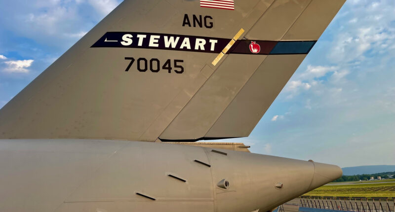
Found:
[[[0,140],[0,170],[0,211],[15,212],[266,212],[341,176],[308,161],[104,140]]]

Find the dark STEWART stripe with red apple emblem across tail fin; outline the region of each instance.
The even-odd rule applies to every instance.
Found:
[[[108,32],[92,48],[143,48],[219,54],[232,39],[159,33]],[[237,40],[227,54],[308,54],[316,40]]]

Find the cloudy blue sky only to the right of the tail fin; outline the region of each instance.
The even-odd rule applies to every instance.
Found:
[[[261,140],[251,150],[265,154],[273,149],[278,156],[343,167],[393,164],[394,11],[394,0],[347,0],[269,108],[269,117],[251,133]],[[303,83],[311,88],[305,89]],[[290,96],[295,98],[288,99]],[[276,115],[279,109],[292,114],[285,114],[286,121],[280,121]],[[266,146],[265,141],[276,141],[275,147],[281,152]],[[355,148],[355,143],[348,141],[363,145]],[[328,149],[346,154],[339,159]],[[363,156],[372,149],[385,154],[379,158]]]

